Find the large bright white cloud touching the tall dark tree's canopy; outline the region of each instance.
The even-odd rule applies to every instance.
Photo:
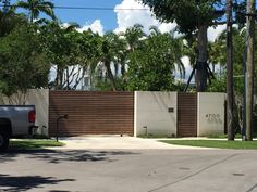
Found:
[[[147,34],[149,33],[150,26],[157,26],[161,33],[170,31],[176,26],[174,23],[160,23],[155,18],[149,8],[140,4],[137,0],[123,0],[120,4],[115,5],[114,12],[117,13],[118,23],[115,33],[124,31],[135,24],[143,25],[144,31]]]

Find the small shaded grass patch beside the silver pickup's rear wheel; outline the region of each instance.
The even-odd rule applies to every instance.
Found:
[[[11,140],[10,149],[21,149],[21,150],[34,150],[44,149],[50,146],[63,146],[64,143],[57,142],[54,140],[37,140],[37,139],[24,139],[24,140]]]

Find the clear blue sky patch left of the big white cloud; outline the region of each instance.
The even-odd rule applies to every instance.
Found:
[[[86,8],[113,8],[122,0],[52,0],[56,7],[86,7]],[[77,22],[79,25],[93,23],[100,20],[105,31],[118,27],[117,13],[111,10],[61,10],[54,12],[62,22]]]

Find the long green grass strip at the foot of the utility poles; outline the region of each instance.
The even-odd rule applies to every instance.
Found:
[[[176,145],[201,148],[257,150],[257,141],[220,141],[220,140],[162,140],[161,142]]]

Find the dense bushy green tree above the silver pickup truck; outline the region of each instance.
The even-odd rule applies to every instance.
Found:
[[[14,28],[0,39],[0,89],[5,95],[48,85],[50,66],[35,29]]]

